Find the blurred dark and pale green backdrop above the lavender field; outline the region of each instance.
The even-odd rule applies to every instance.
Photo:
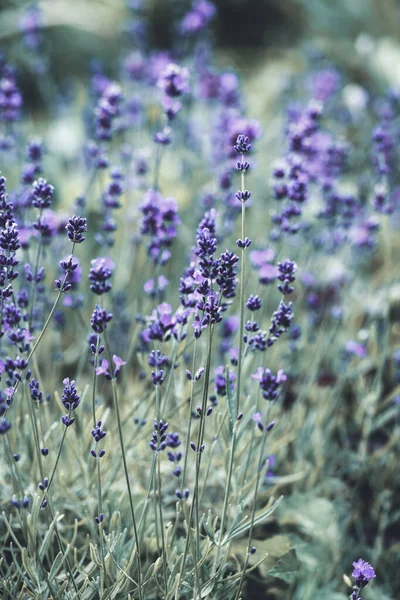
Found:
[[[27,101],[35,105],[37,98],[27,55],[20,52],[21,13],[40,9],[51,72],[54,81],[65,86],[66,78],[87,74],[94,56],[110,74],[117,69],[117,53],[121,44],[128,44],[132,26],[128,3],[134,5],[135,0],[1,0],[0,48],[25,74],[25,86],[32,90]],[[173,17],[183,15],[190,4],[146,2],[146,35],[152,49],[179,49],[182,40],[173,29]],[[358,69],[353,76],[362,79],[365,53],[373,46],[380,75],[400,83],[397,0],[216,0],[216,5],[212,35],[221,66],[250,75],[268,61],[284,58],[296,68],[301,59],[293,50],[310,46],[310,51],[319,49],[340,66]]]

